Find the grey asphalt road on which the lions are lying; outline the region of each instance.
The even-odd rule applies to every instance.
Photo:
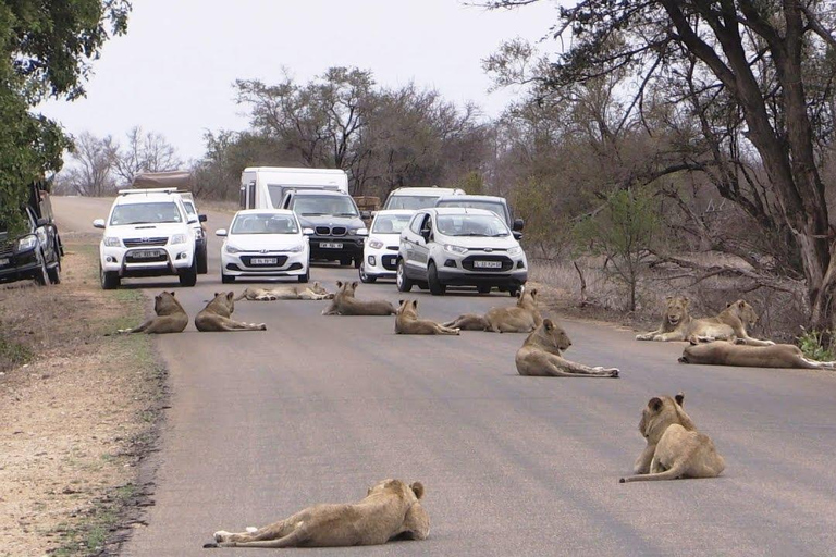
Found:
[[[109,201],[56,199],[64,231],[89,231]],[[207,226],[229,215],[210,214]],[[175,287],[194,315],[220,292],[210,274],[126,281]],[[334,288],[354,269],[315,267]],[[235,290],[242,285],[233,285]],[[505,295],[420,290],[426,318],[508,305]],[[394,284],[358,297],[404,297]],[[420,480],[432,531],[422,542],[304,549],[305,555],[834,555],[836,375],[683,366],[681,344],[562,321],[567,357],[615,366],[622,379],[521,377],[525,335],[394,334],[394,318],[323,317],[327,302],[236,305],[267,332],[156,342],[170,369],[156,505],[123,554],[206,555],[213,531],[263,525],[314,503],[358,500],[384,478]],[[686,409],[726,459],[718,479],[618,484],[644,443],[641,408],[686,393]],[[216,549],[243,555],[248,549]],[[267,550],[266,550],[267,552]]]

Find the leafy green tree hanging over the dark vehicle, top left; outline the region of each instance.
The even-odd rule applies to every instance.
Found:
[[[0,3],[0,221],[21,226],[27,185],[60,170],[60,126],[33,113],[41,100],[75,99],[104,41],[125,33],[127,0]]]

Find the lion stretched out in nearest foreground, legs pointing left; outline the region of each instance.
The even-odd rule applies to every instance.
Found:
[[[384,544],[394,537],[425,540],[430,517],[421,497],[420,482],[383,480],[359,503],[315,505],[255,531],[221,530],[214,533],[214,543],[204,547],[352,547]]]

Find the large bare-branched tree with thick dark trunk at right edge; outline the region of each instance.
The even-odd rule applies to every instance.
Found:
[[[491,4],[509,8],[531,1]],[[700,110],[722,109],[725,116],[725,122],[704,121],[700,129],[709,149],[720,152],[713,160],[686,160],[676,171],[701,172],[717,168],[718,161],[735,164],[741,153],[757,157],[767,176],[763,197],[774,200],[776,212],[747,196],[737,172],[721,169],[717,190],[762,226],[775,222],[788,231],[807,282],[810,322],[819,330],[834,324],[836,289],[836,232],[829,225],[816,156],[816,141],[833,137],[836,39],[831,5],[823,0],[579,1],[561,9],[555,36],[571,35],[571,42],[552,62],[545,79],[549,88],[562,89],[628,71],[637,76],[631,106],[640,107],[654,79],[681,84],[683,76],[697,77],[690,81],[699,83],[694,94],[711,99]],[[747,186],[749,191],[757,188]]]

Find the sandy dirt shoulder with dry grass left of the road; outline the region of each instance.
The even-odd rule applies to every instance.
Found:
[[[0,286],[0,555],[116,553],[140,527],[165,400],[139,290],[102,290],[89,235],[65,239],[62,283]]]

